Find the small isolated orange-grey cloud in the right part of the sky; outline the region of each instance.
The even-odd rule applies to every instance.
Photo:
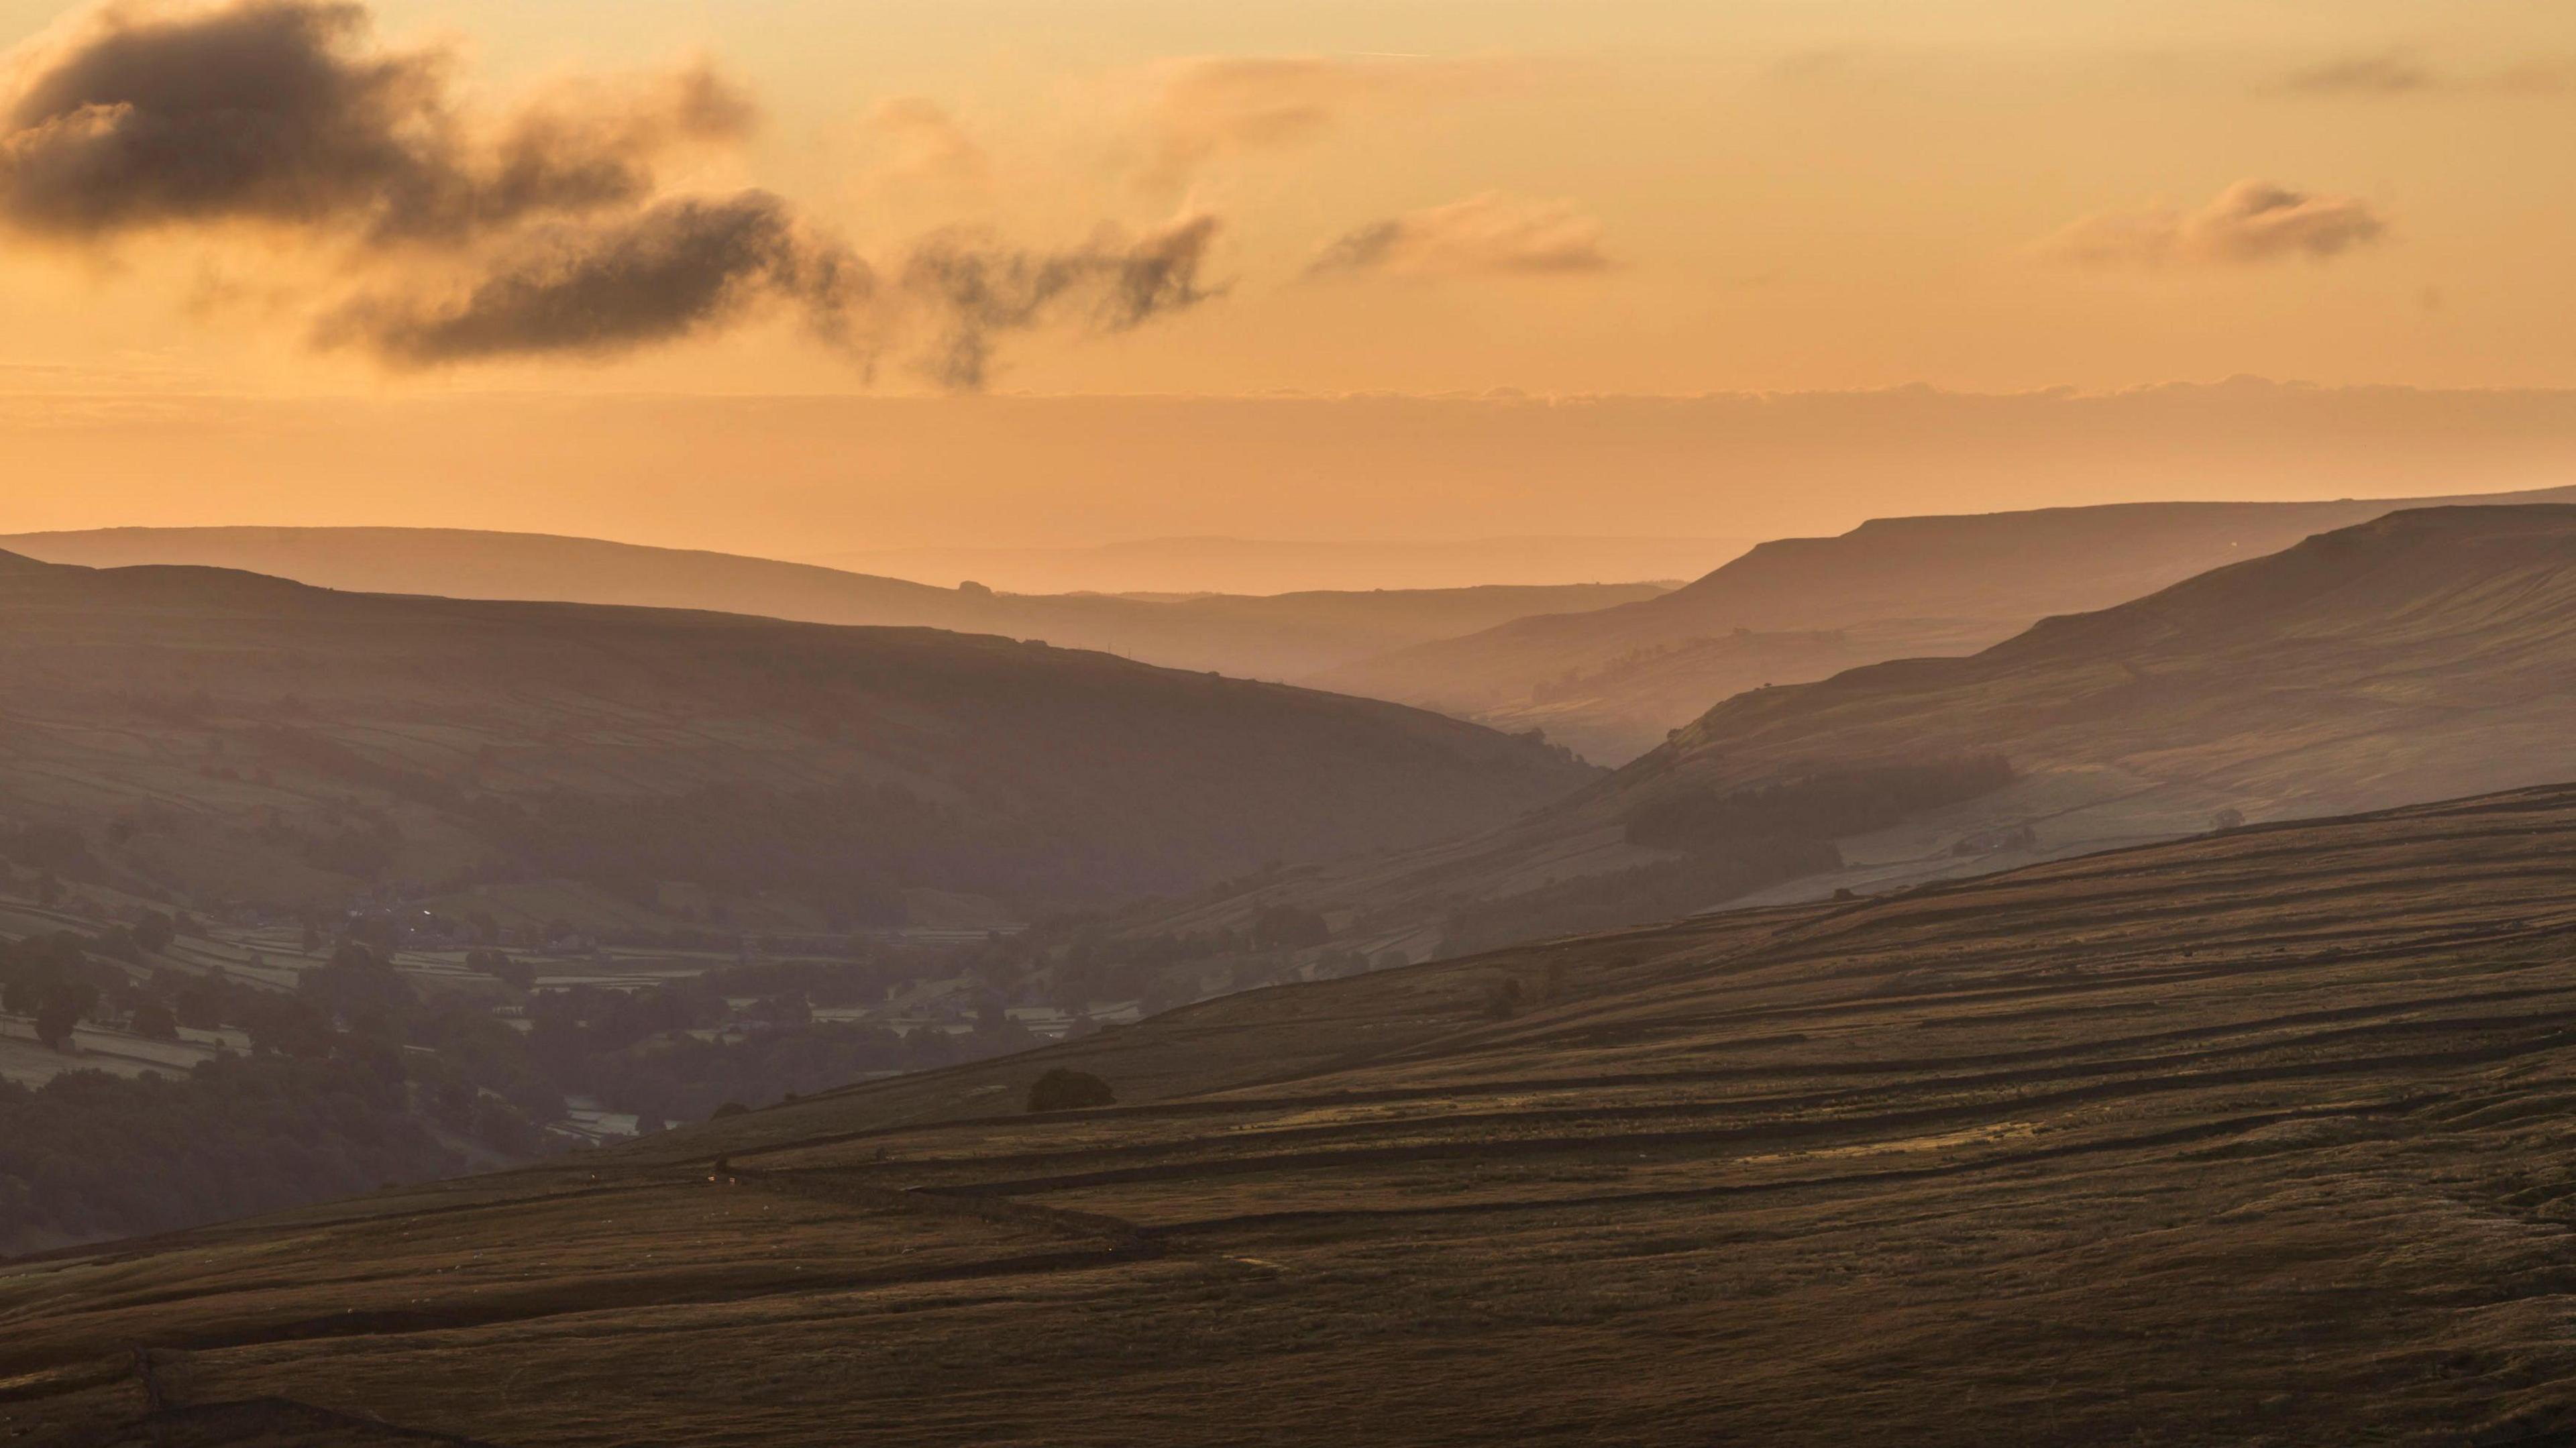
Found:
[[[2331,260],[2388,237],[2388,219],[2357,196],[2311,196],[2239,180],[2197,211],[2097,211],[2040,242],[2040,255],[2081,265],[2262,265]]]

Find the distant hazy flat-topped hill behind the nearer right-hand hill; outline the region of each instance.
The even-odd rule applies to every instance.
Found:
[[[1762,544],[1659,598],[1515,618],[1314,683],[1499,729],[1538,727],[1592,760],[1625,763],[1747,688],[1968,654],[2040,618],[2110,608],[2401,508],[2568,500],[2576,490],[1878,518],[1837,538]]]

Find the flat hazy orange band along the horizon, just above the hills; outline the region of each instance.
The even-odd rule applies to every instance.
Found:
[[[1749,546],[1888,515],[2553,487],[2576,479],[2576,392],[18,394],[0,397],[0,446],[23,461],[0,484],[8,533],[428,526],[806,562],[1157,538]]]

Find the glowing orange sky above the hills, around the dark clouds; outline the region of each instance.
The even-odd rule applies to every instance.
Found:
[[[204,10],[142,5],[144,21],[124,26]],[[286,214],[273,196],[144,209],[139,173],[108,173],[113,214],[67,209],[41,186],[59,180],[62,157],[93,165],[98,152],[64,149],[67,121],[39,111],[77,90],[46,85],[100,44],[103,23],[52,0],[0,0],[0,41],[23,41],[0,113],[0,142],[15,147],[0,155],[18,157],[15,175],[0,170],[0,392],[13,397],[0,446],[88,479],[80,497],[26,472],[0,479],[0,528],[319,510],[647,531],[634,515],[582,526],[603,492],[654,472],[634,456],[652,451],[649,433],[595,433],[611,415],[636,425],[616,407],[562,412],[554,466],[536,479],[394,466],[394,482],[381,461],[350,466],[402,451],[404,425],[386,417],[435,405],[461,435],[520,435],[523,410],[544,397],[922,397],[925,410],[868,417],[912,428],[871,443],[927,456],[994,415],[974,412],[989,399],[956,399],[961,386],[2117,392],[2236,374],[2576,386],[2576,330],[2563,325],[2576,304],[2563,263],[2576,240],[2568,5],[381,0],[371,18],[368,33],[332,41],[340,62],[440,54],[422,75],[435,75],[435,116],[461,139],[435,165],[492,173],[541,106],[559,129],[616,129],[623,139],[600,144],[626,147],[613,155],[634,162],[639,188],[590,211],[477,219],[453,234],[422,224],[397,240],[363,191],[374,173],[335,193],[330,214],[301,201]],[[654,88],[693,64],[714,67],[757,124],[652,111],[665,106]],[[39,175],[28,157],[57,170]],[[626,222],[659,224],[659,204],[750,188],[770,193],[770,209],[726,219],[770,227],[770,250],[744,273],[739,307],[703,325],[564,350],[562,330],[531,348],[464,317],[477,283],[523,281],[531,255],[562,268]],[[1136,258],[1177,245],[1188,271],[1128,307]],[[1025,309],[922,281],[925,258],[948,265],[945,278],[958,258],[1010,255],[1066,263],[1079,281]],[[860,273],[868,286],[845,286]],[[335,399],[332,428],[350,448],[291,451],[265,482],[234,477],[222,453],[144,464],[137,441],[100,435],[98,397],[198,420],[219,415],[209,399]],[[46,423],[52,410],[62,417]],[[680,495],[654,508],[667,520],[649,531],[685,533],[701,508],[714,533],[739,538],[832,528],[806,551],[992,531],[1605,531],[1584,526],[1582,502],[1533,502],[1502,474],[1486,500],[1494,526],[1461,518],[1461,505],[1476,508],[1473,477],[1396,466],[1401,448],[1368,453],[1391,443],[1365,438],[1345,461],[1368,487],[1283,515],[1221,477],[1221,459],[1262,430],[1226,410],[1193,417],[1203,433],[1188,446],[1151,448],[1188,472],[1144,479],[1051,453],[1048,435],[1025,435],[1023,451],[981,438],[989,466],[1054,479],[1036,513],[1012,518],[992,508],[1048,484],[835,472],[773,441],[788,456],[747,487],[824,490],[814,497],[827,505],[809,497],[755,520],[739,515],[742,490],[690,500],[685,482],[654,482]],[[1131,420],[1110,410],[1069,435],[1123,435]],[[2470,472],[2486,464],[2468,459],[2514,451],[2512,438],[2473,443],[2460,453]],[[670,461],[706,466],[708,446],[675,438]],[[1613,446],[1672,451],[1651,469],[1677,474],[1749,472],[1723,435]],[[1798,456],[1767,453],[1770,474],[1808,466]],[[2555,469],[2514,456],[2522,472]],[[193,487],[191,469],[206,472]],[[1929,472],[1965,469],[1932,459]],[[2280,472],[2269,487],[2236,464],[2141,472],[2074,469],[2056,500],[2112,487],[2195,495],[2210,477],[2272,495],[2336,487],[2331,469]],[[902,492],[933,474],[938,497]],[[2496,482],[2478,472],[2458,487]],[[1638,523],[1736,536],[1741,520],[1826,526],[1899,495],[1922,508],[2050,495],[2045,479],[1942,487],[1824,487],[1803,510],[1698,497],[1687,518]],[[1628,492],[1664,497],[1649,482]]]

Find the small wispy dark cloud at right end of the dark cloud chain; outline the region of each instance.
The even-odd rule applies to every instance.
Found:
[[[1100,240],[1064,252],[1025,252],[969,237],[933,237],[902,265],[904,294],[940,332],[925,371],[945,386],[981,386],[992,345],[1051,319],[1100,332],[1141,327],[1206,301],[1200,281],[1213,216],[1190,216],[1146,237]]]

